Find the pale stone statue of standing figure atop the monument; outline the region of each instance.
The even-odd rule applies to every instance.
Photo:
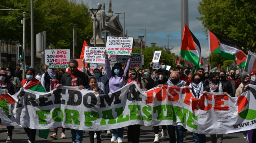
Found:
[[[95,29],[93,26],[93,38],[91,38],[91,39],[94,39],[94,33],[96,30],[96,40],[99,40],[100,34],[101,34],[102,30],[104,29],[104,25],[106,22],[106,15],[105,15],[105,11],[103,9],[101,9],[102,4],[98,3],[97,6],[98,6],[98,12],[96,13]],[[93,15],[91,16],[91,18],[94,20]],[[93,25],[94,25],[94,22],[93,22]]]

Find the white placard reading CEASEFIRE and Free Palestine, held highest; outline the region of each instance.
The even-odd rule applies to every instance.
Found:
[[[130,55],[133,39],[132,37],[108,36],[106,43],[107,54]]]

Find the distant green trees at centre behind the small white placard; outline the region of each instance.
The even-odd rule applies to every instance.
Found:
[[[144,65],[143,69],[149,68],[150,63],[152,62],[153,59],[153,47],[147,47],[145,49],[142,49],[142,54],[144,54]],[[132,48],[133,53],[141,53],[141,48],[140,47],[133,47]],[[166,60],[167,65],[170,65],[171,68],[175,66],[175,60],[176,56],[173,54],[169,54],[167,51],[162,50],[159,47],[154,47],[154,51],[162,51],[161,52],[161,57],[160,60]]]

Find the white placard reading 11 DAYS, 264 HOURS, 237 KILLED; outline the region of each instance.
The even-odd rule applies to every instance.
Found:
[[[45,50],[45,63],[48,67],[69,67],[69,49]]]

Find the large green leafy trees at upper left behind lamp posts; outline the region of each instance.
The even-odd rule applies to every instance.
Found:
[[[30,0],[0,0],[0,4],[13,9],[25,9],[26,43],[30,45]],[[3,7],[1,7],[3,9]],[[5,8],[7,9],[7,8]],[[83,40],[79,35],[92,35],[91,16],[87,5],[74,0],[34,0],[34,43],[37,33],[46,31],[46,45],[53,49],[73,48],[73,26],[77,27],[76,56],[80,56]],[[23,11],[0,11],[0,39],[22,43]],[[17,16],[16,16],[17,15]],[[35,46],[34,46],[35,47]]]

